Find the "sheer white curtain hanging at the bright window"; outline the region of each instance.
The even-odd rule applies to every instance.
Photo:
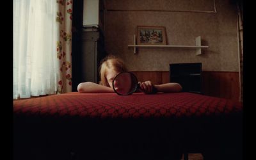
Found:
[[[13,99],[58,90],[56,0],[13,1]]]

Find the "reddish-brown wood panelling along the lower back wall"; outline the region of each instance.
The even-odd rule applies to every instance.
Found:
[[[168,71],[132,71],[138,81],[152,81],[154,84],[170,82]],[[204,95],[240,101],[239,72],[202,72]]]

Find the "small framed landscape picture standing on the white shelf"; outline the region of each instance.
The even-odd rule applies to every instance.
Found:
[[[137,26],[138,45],[166,45],[166,31],[163,26]]]

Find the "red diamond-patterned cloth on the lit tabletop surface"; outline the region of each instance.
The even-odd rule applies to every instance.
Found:
[[[15,114],[86,117],[179,117],[237,113],[239,102],[195,93],[65,93],[35,99],[15,100]]]

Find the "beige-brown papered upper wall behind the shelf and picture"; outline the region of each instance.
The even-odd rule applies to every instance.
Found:
[[[133,71],[169,70],[169,63],[202,62],[203,70],[239,71],[236,6],[216,0],[216,13],[138,12],[115,10],[200,10],[214,11],[213,0],[106,0],[106,51],[124,59]],[[201,36],[208,45],[203,54],[195,49],[133,49],[136,26],[165,26],[169,45],[195,45]]]

